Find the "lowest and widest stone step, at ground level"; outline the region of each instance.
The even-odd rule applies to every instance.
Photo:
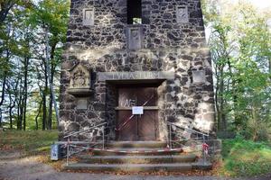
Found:
[[[64,166],[66,170],[89,170],[89,171],[121,171],[121,172],[154,172],[159,170],[187,172],[192,170],[192,163],[174,164],[87,164],[73,163]]]

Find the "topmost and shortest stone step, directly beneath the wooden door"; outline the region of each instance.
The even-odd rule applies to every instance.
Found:
[[[166,148],[165,141],[109,141],[107,148]]]

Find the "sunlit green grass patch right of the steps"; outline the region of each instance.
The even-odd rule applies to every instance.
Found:
[[[253,176],[270,172],[270,145],[239,138],[223,140],[222,147],[224,174]]]

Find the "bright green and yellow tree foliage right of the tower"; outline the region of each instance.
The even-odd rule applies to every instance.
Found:
[[[271,14],[246,2],[203,1],[210,26],[218,129],[270,139]]]

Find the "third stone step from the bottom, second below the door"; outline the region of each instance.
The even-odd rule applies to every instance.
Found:
[[[109,148],[109,149],[92,149],[91,152],[95,156],[147,156],[147,155],[180,155],[182,148]]]

